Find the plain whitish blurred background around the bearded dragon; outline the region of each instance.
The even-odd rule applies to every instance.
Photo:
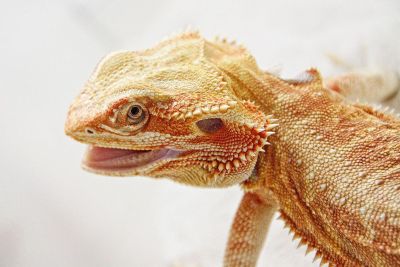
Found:
[[[63,133],[98,60],[192,25],[237,39],[264,69],[398,68],[400,2],[2,1],[0,266],[221,266],[239,188],[198,189],[80,169]],[[318,266],[274,220],[259,266]]]

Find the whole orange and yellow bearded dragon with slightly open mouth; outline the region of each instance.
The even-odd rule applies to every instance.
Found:
[[[240,45],[187,32],[103,58],[65,132],[89,144],[94,173],[240,185],[224,266],[256,265],[275,212],[321,264],[400,266],[400,121],[345,98],[394,87],[350,77],[285,80]]]

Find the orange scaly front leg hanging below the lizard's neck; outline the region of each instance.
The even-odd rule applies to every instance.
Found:
[[[276,205],[264,194],[247,192],[233,221],[225,250],[225,267],[256,266]]]

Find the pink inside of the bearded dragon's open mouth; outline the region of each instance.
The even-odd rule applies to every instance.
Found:
[[[173,158],[178,151],[159,150],[127,150],[89,146],[83,164],[91,169],[115,171],[134,169],[154,163],[165,158]]]

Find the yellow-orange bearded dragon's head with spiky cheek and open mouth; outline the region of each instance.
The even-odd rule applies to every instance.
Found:
[[[106,56],[65,125],[67,135],[89,144],[84,168],[197,186],[247,179],[275,124],[235,96],[234,81],[218,66],[243,51],[186,33]]]

